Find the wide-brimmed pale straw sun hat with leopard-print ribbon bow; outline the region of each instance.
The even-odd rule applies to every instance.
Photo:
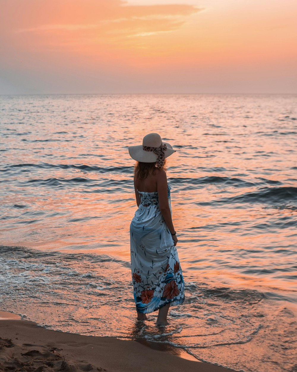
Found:
[[[132,159],[142,163],[155,163],[157,167],[164,164],[164,159],[175,153],[172,146],[162,142],[157,133],[150,133],[143,137],[142,145],[130,146],[128,148]]]

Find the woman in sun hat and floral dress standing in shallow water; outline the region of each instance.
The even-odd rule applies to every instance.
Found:
[[[185,300],[176,231],[171,218],[170,189],[165,158],[175,152],[157,133],[143,144],[130,146],[137,161],[134,187],[138,209],[130,225],[131,270],[137,319],[159,310],[157,324],[167,325],[169,306]]]

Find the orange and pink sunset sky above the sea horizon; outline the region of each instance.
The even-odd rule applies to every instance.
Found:
[[[296,0],[0,3],[0,94],[297,93]]]

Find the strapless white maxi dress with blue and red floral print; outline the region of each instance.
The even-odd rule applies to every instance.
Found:
[[[168,186],[168,202],[170,204]],[[182,304],[184,281],[172,235],[159,209],[157,192],[140,192],[130,224],[131,272],[136,310],[147,314]]]

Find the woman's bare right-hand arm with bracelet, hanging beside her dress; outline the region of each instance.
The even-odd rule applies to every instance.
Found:
[[[159,197],[159,207],[160,212],[164,218],[164,221],[166,222],[166,225],[170,231],[171,234],[174,234],[174,226],[172,222],[171,217],[171,211],[169,208],[168,203],[168,189],[167,189],[167,177],[164,170],[161,170],[159,174],[157,174],[157,191],[158,191],[158,197]],[[176,246],[177,243],[177,237],[176,235],[172,235],[172,239],[174,241],[174,246]]]

